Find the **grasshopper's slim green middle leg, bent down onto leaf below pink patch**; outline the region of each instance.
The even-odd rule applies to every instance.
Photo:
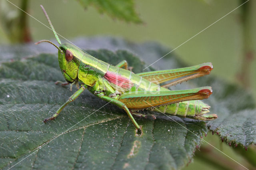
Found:
[[[118,101],[114,98],[111,98],[111,97],[108,97],[108,96],[105,96],[104,94],[100,93],[100,94],[96,94],[97,97],[99,97],[100,99],[104,100],[104,101],[108,101],[122,109],[124,109],[124,111],[127,113],[127,115],[130,117],[132,123],[134,124],[134,126],[136,127],[137,129],[137,133],[138,134],[141,134],[141,127],[138,125],[138,123],[135,121],[134,117],[132,116],[132,114],[130,113],[130,110],[127,108],[127,106],[122,103],[121,101]]]

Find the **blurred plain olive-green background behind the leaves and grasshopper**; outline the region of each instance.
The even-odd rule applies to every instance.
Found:
[[[21,5],[19,0],[10,0],[10,2],[17,6]],[[76,0],[31,0],[28,3],[28,13],[48,26],[40,8],[40,4],[42,4],[55,30],[70,41],[80,36],[114,36],[138,43],[159,42],[171,50],[192,38],[243,2],[245,1],[135,1],[135,10],[143,21],[142,24],[127,23],[118,19],[113,20],[107,14],[99,14],[93,6],[84,10],[84,7]],[[225,81],[246,86],[256,96],[256,59],[253,55],[256,50],[256,32],[254,31],[256,30],[256,10],[253,10],[256,9],[256,1],[250,0],[247,3],[247,6],[241,6],[231,12],[172,53],[176,53],[189,65],[212,62],[214,66],[213,75],[217,75]],[[8,10],[13,10],[9,14],[10,17],[15,12],[20,12],[6,0],[2,0],[0,5],[1,9],[7,5]],[[244,19],[245,13],[246,19]],[[1,22],[3,23],[3,20]],[[6,36],[6,30],[4,30],[2,23],[0,25],[0,44],[11,44],[12,42]],[[28,25],[32,42],[54,39],[51,30],[31,17],[28,17]],[[64,42],[62,38],[61,40]],[[248,55],[245,55],[245,53],[248,50],[254,56],[254,59],[246,59],[245,56]],[[246,61],[244,62],[244,60]],[[245,74],[243,73],[242,78],[239,78],[238,75],[242,71]],[[236,155],[229,146],[220,144],[218,137],[208,136],[206,139],[208,141],[212,140],[211,143],[214,146],[217,145],[225,150],[230,156],[232,155],[232,158]],[[204,146],[208,147],[207,144]],[[238,162],[244,162],[244,159],[239,156],[235,156],[235,159]],[[196,156],[194,163],[189,164],[186,169],[195,167],[210,168],[205,159],[200,158],[200,156]],[[218,169],[218,167],[213,166],[212,169]]]

